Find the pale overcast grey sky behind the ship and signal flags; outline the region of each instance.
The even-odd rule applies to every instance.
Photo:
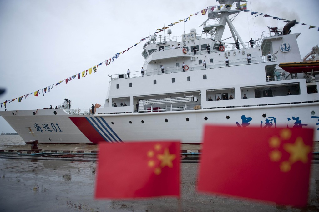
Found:
[[[216,4],[215,0],[0,0],[0,87],[6,89],[0,102],[85,71],[138,43],[142,37],[162,28],[164,22],[167,26]],[[297,24],[292,28],[292,33],[301,32],[297,39],[301,57],[319,44],[318,8],[317,0],[251,0],[247,3],[248,10],[317,26],[308,29],[309,26]],[[172,36],[181,36],[184,31],[189,33],[191,28],[199,33],[202,31],[199,26],[206,19],[207,15],[198,14],[186,23],[175,24],[170,28]],[[286,23],[241,12],[233,24],[244,42],[248,42],[251,37],[260,38],[262,32],[268,30],[267,26],[282,29]],[[164,31],[159,34],[164,36]],[[230,36],[226,28],[224,38]],[[89,109],[95,103],[104,106],[107,75],[125,73],[128,68],[131,72],[139,71],[144,63],[141,56],[144,43],[121,54],[109,66],[105,63],[99,66],[97,73],[73,79],[67,85],[63,82],[44,96],[40,92],[38,97],[32,94],[22,102],[16,99],[7,103],[7,110],[55,107],[65,98],[71,100],[73,109]],[[2,117],[1,132],[14,132]]]

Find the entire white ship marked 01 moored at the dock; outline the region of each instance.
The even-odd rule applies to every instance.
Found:
[[[191,29],[175,37],[167,30],[165,37],[154,34],[146,40],[144,72],[111,75],[105,104],[94,114],[72,109],[65,99],[59,109],[2,111],[0,115],[26,142],[164,139],[200,143],[205,124],[312,127],[318,141],[319,68],[317,62],[309,62],[319,60],[318,46],[301,58],[300,33],[289,32],[293,22],[245,43],[228,17],[240,10],[210,9],[201,25],[203,34]],[[222,38],[226,24],[231,38]]]

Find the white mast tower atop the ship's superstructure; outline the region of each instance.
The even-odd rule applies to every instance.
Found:
[[[246,48],[246,45],[244,44],[243,40],[241,39],[240,35],[238,34],[236,28],[232,24],[231,20],[229,19],[229,15],[237,14],[241,10],[231,10],[232,7],[227,7],[226,5],[233,5],[234,3],[237,3],[237,7],[239,7],[240,2],[247,2],[246,0],[218,0],[219,4],[224,5],[218,5],[219,8],[214,8],[213,11],[211,11],[212,6],[210,6],[208,10],[208,19],[204,21],[202,25],[204,25],[204,31],[209,32],[211,31],[211,35],[213,36],[213,39],[215,40],[221,40],[226,23],[228,24],[228,27],[230,29],[230,32],[232,33],[234,37],[234,41],[236,41],[236,38],[241,42],[242,46]],[[201,25],[201,26],[202,26]]]

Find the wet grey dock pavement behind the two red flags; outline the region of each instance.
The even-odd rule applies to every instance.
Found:
[[[7,159],[0,154],[0,211],[319,211],[319,163],[312,163],[303,209],[196,192],[199,163],[182,162],[181,200],[95,200],[96,156]],[[7,157],[12,157],[9,154]],[[194,156],[195,157],[195,156]],[[75,159],[86,161],[75,161]],[[42,160],[46,159],[46,160]],[[50,160],[47,160],[50,159]],[[92,159],[92,161],[90,161]],[[196,158],[195,158],[196,159]],[[116,158],[115,158],[116,160]],[[129,174],[129,173],[128,173]],[[112,179],[106,179],[112,183]],[[263,182],[260,182],[263,183]]]

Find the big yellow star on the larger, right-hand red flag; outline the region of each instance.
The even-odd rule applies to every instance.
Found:
[[[305,145],[301,137],[297,137],[294,144],[284,144],[284,149],[290,153],[289,161],[291,164],[297,161],[308,162],[308,154],[311,151],[310,146]]]

